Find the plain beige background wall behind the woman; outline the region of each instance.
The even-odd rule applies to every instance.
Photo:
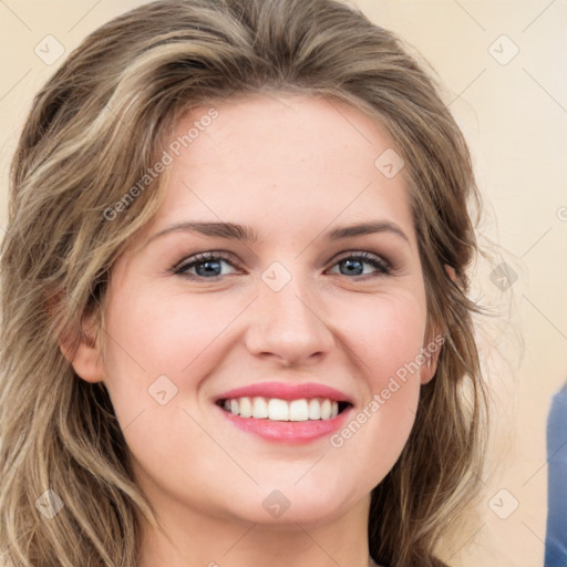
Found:
[[[62,61],[45,64],[35,45],[42,48],[51,34],[68,53],[96,27],[141,3],[0,0],[0,227],[6,226],[8,163],[18,133],[33,94]],[[491,470],[483,476],[485,494],[477,514],[471,514],[460,540],[443,555],[455,567],[543,565],[545,421],[550,395],[567,379],[567,3],[355,3],[439,72],[472,146],[485,195],[482,243],[492,239],[502,247],[492,248],[491,261],[478,264],[472,290],[483,306],[501,313],[478,319],[496,408]],[[51,45],[50,53],[56,53]],[[505,291],[489,278],[503,260],[517,274]],[[499,506],[494,506],[492,498],[502,489]],[[516,502],[509,517],[498,517]]]

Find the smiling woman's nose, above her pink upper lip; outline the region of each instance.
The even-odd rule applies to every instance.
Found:
[[[317,295],[300,285],[298,277],[279,291],[260,280],[251,309],[246,344],[257,357],[274,358],[285,365],[310,364],[334,347]]]

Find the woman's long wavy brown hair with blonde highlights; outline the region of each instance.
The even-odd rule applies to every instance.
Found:
[[[379,564],[444,565],[440,537],[477,487],[486,392],[466,276],[481,198],[441,87],[396,35],[338,0],[163,0],[71,53],[37,94],[13,157],[1,249],[6,566],[136,566],[137,514],[156,519],[104,384],[81,380],[59,342],[79,340],[86,313],[104,333],[109,276],[155,215],[166,176],[111,220],[109,207],[159,159],[176,121],[230,96],[284,91],[353,105],[388,128],[405,161],[427,326],[445,342],[406,446],[372,492],[369,543]],[[48,489],[64,503],[52,520],[37,506]]]

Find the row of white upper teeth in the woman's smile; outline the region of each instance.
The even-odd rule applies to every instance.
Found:
[[[272,421],[330,420],[339,414],[338,402],[313,398],[280,400],[279,398],[236,398],[225,400],[225,410],[240,417]]]

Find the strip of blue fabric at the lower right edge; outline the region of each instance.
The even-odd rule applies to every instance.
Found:
[[[567,566],[567,382],[547,419],[547,534],[545,567]]]

